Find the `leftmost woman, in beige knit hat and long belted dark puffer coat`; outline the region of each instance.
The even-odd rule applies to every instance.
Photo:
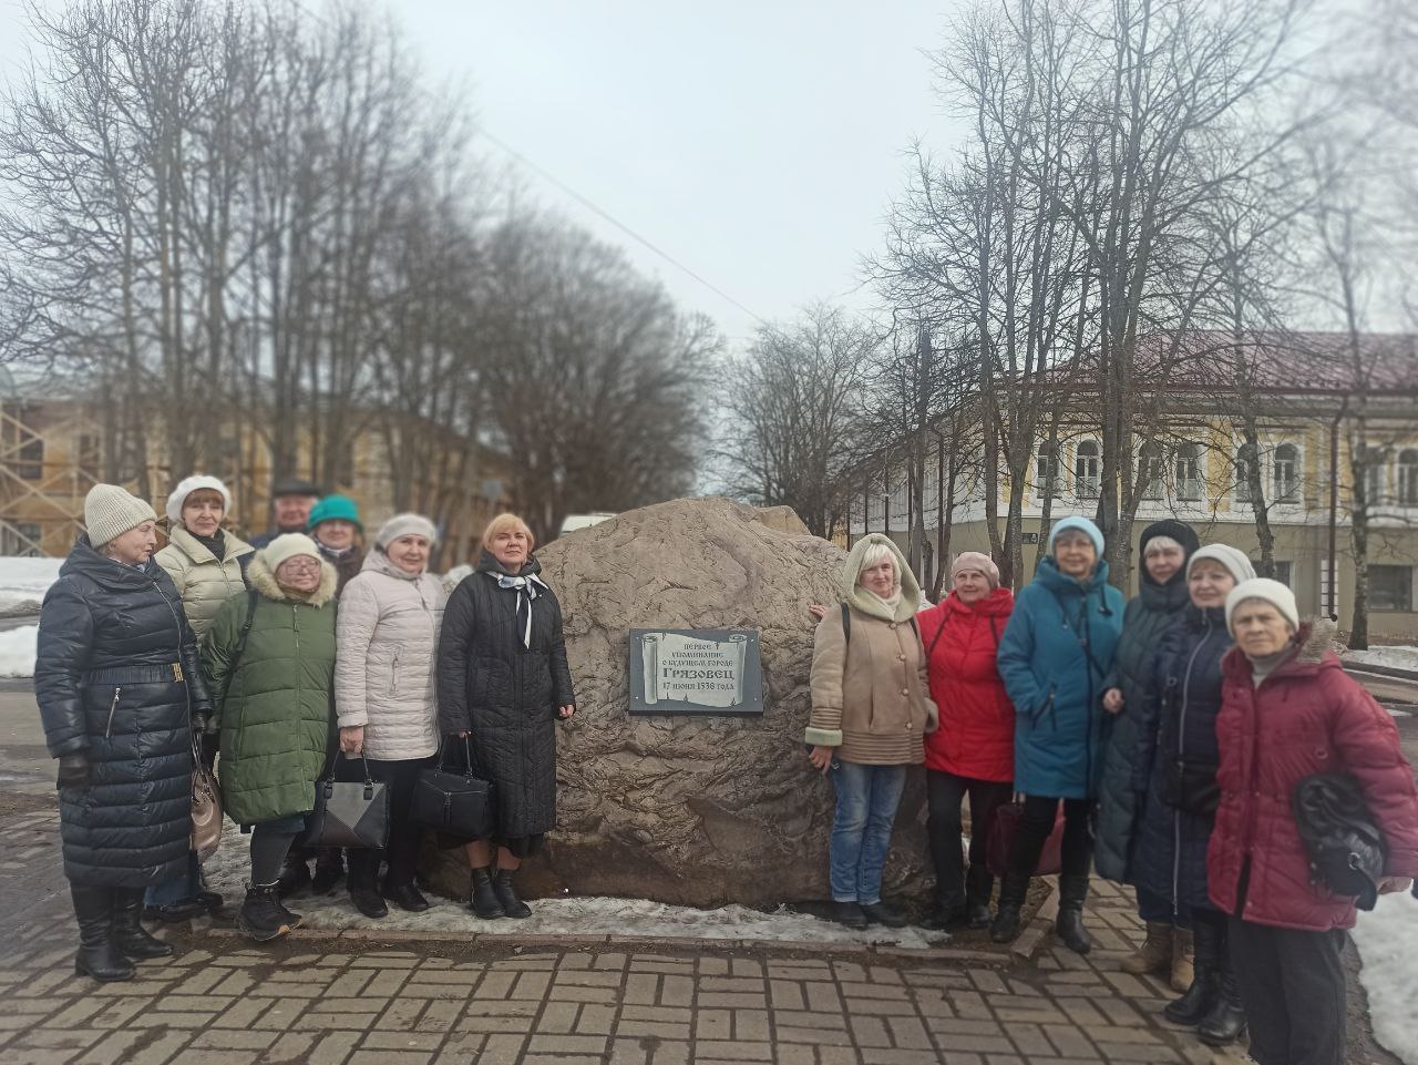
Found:
[[[187,872],[193,726],[211,703],[182,597],[150,562],[153,508],[95,485],[84,523],[44,597],[34,695],[60,760],[75,971],[128,980],[130,959],[172,953],[143,930],[143,891]]]

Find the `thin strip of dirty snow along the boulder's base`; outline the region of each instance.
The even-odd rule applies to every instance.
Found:
[[[251,876],[251,837],[228,824],[221,849],[204,862],[207,882],[227,899],[227,912],[234,913],[245,896]],[[666,906],[644,899],[564,898],[532,899],[532,916],[526,920],[481,920],[467,902],[454,902],[427,893],[432,909],[406,913],[394,906],[389,916],[373,920],[350,905],[342,881],[333,895],[315,898],[299,895],[289,900],[291,909],[315,929],[397,929],[408,932],[448,932],[461,935],[535,935],[535,936],[647,936],[693,939],[764,939],[814,943],[893,943],[903,947],[942,946],[950,942],[944,932],[917,927],[872,927],[852,932],[821,918],[791,913],[780,908],[773,913],[747,906],[722,906],[702,910],[689,906]]]

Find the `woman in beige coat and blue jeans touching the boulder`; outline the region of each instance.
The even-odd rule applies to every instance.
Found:
[[[937,719],[916,627],[920,586],[896,545],[871,533],[847,556],[838,590],[841,610],[818,623],[813,644],[805,735],[808,757],[837,790],[832,902],[849,927],[900,927],[906,919],[881,896],[882,866],[906,767],[925,760]]]

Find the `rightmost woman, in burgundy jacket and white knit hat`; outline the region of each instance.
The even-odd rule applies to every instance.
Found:
[[[1354,899],[1313,881],[1290,797],[1317,773],[1353,776],[1388,842],[1380,892],[1418,874],[1418,788],[1398,729],[1300,625],[1295,596],[1248,580],[1227,597],[1236,647],[1222,661],[1221,805],[1207,848],[1212,903],[1229,916],[1231,964],[1261,1065],[1344,1061],[1344,932]]]

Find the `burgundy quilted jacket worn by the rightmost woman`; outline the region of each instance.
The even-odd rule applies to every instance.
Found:
[[[1207,851],[1212,903],[1236,913],[1242,871],[1255,925],[1327,932],[1354,926],[1354,900],[1310,883],[1290,814],[1295,786],[1314,773],[1353,774],[1388,841],[1388,876],[1418,876],[1418,788],[1387,710],[1344,672],[1326,631],[1303,625],[1300,649],[1261,686],[1232,649],[1222,662],[1221,807]]]

